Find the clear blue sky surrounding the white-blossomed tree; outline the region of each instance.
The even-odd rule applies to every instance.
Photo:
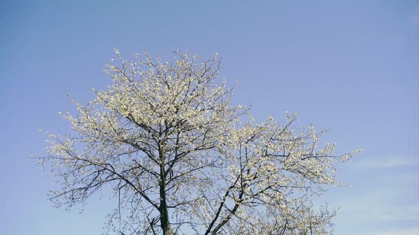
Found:
[[[341,166],[320,199],[341,206],[336,234],[418,234],[418,2],[0,1],[0,234],[101,234],[112,201],[83,214],[52,208],[54,179],[37,169],[39,128],[65,133],[57,111],[85,103],[116,47],[125,58],[173,49],[224,58],[236,104],[256,120],[296,111],[331,128]]]

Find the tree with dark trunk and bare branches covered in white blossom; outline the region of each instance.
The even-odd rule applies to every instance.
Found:
[[[71,208],[109,187],[119,234],[324,234],[335,212],[313,194],[338,186],[334,144],[318,147],[295,114],[258,124],[218,82],[221,60],[176,52],[174,61],[135,55],[107,65],[108,89],[62,116],[72,131],[48,134],[39,158],[57,175],[57,206]]]

